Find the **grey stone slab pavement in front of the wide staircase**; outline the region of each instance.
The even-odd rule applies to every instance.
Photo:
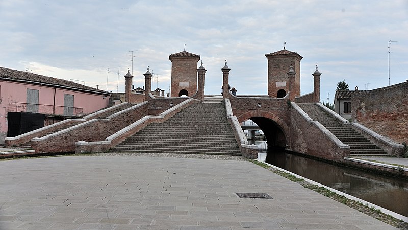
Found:
[[[248,161],[60,156],[0,175],[0,229],[395,229]]]

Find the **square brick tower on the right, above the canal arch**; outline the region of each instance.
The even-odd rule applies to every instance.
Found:
[[[296,52],[285,49],[270,54],[265,54],[268,58],[268,95],[272,98],[283,98],[289,91],[288,71],[291,66],[296,72],[294,90],[291,92],[294,97],[300,96],[300,56]],[[293,95],[291,95],[293,96]]]

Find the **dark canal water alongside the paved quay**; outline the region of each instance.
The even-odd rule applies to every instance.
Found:
[[[268,151],[266,163],[408,217],[408,181]]]

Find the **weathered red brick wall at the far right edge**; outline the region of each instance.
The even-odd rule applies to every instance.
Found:
[[[398,143],[408,143],[408,81],[359,91],[351,98],[352,120]]]

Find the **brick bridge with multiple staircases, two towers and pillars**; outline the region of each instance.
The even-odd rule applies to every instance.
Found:
[[[385,139],[359,124],[349,123],[319,103],[321,73],[317,66],[312,73],[314,91],[300,96],[300,74],[298,72],[300,72],[302,57],[285,49],[265,56],[268,59],[268,95],[232,95],[228,90],[230,68],[225,61],[225,65],[221,68],[222,96],[205,97],[206,69],[202,62],[198,68],[192,67],[194,65],[191,63],[197,63],[200,57],[183,51],[170,55],[172,97],[154,96],[149,90],[146,90],[144,94],[132,93],[133,76],[128,71],[124,76],[125,103],[90,114],[83,119],[68,119],[60,124],[56,123],[17,137],[8,137],[5,145],[18,146],[27,143],[26,145],[30,145],[37,153],[105,152],[112,151],[112,149],[114,151],[137,151],[139,148],[142,152],[242,154],[247,158],[256,158],[258,149],[254,145],[248,145],[239,124],[251,119],[263,130],[268,148],[285,148],[337,162],[342,162],[344,157],[359,154],[402,155],[402,145]],[[195,73],[198,73],[198,76],[191,76],[192,68]],[[150,89],[152,74],[147,69],[144,76],[145,88]],[[191,96],[183,98],[180,97],[181,94]],[[210,101],[218,102],[219,106],[195,105],[195,109],[190,110],[201,109],[202,111],[186,113],[188,107]],[[222,110],[226,113],[211,112],[213,117],[205,117],[206,113],[210,113],[209,110]],[[200,118],[191,120],[193,117]],[[180,120],[182,118],[190,120]],[[212,129],[217,129],[219,135],[212,136],[211,132],[200,134],[201,136],[199,134],[181,135],[184,132],[196,130],[204,132],[205,128],[201,126],[209,126],[210,123],[214,123]],[[223,125],[224,123],[227,125]],[[224,128],[218,130],[217,126]],[[153,134],[146,131],[152,127],[155,127],[153,131],[150,131]],[[172,129],[174,130],[171,133],[169,130]],[[138,137],[138,132],[143,134]],[[159,136],[160,133],[164,134]],[[231,141],[228,141],[223,135],[234,136],[235,144],[231,144]],[[169,136],[179,136],[180,140],[169,139],[168,143],[164,143]],[[353,140],[348,140],[348,136],[354,136]],[[209,140],[203,141],[207,138]],[[362,139],[360,144],[355,144],[356,140],[360,142],[361,138],[364,140]],[[216,142],[212,144],[210,139]],[[221,141],[225,143],[219,144]],[[133,143],[129,144],[133,146],[133,150],[130,148],[122,150],[120,146],[124,142]],[[134,144],[134,142],[139,144]],[[202,146],[197,147],[201,142]],[[180,148],[176,147],[177,143]],[[212,145],[214,147],[209,150],[208,148]],[[218,151],[217,149],[223,145],[228,147],[222,152]],[[155,146],[155,148],[149,150],[145,148],[146,146]]]

